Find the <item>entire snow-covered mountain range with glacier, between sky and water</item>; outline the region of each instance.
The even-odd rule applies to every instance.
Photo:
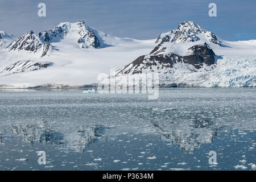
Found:
[[[83,20],[20,38],[0,31],[0,87],[82,87],[116,77],[159,73],[159,86],[256,86],[256,40],[228,42],[193,22],[153,40],[116,38]],[[130,63],[129,63],[130,62]]]

